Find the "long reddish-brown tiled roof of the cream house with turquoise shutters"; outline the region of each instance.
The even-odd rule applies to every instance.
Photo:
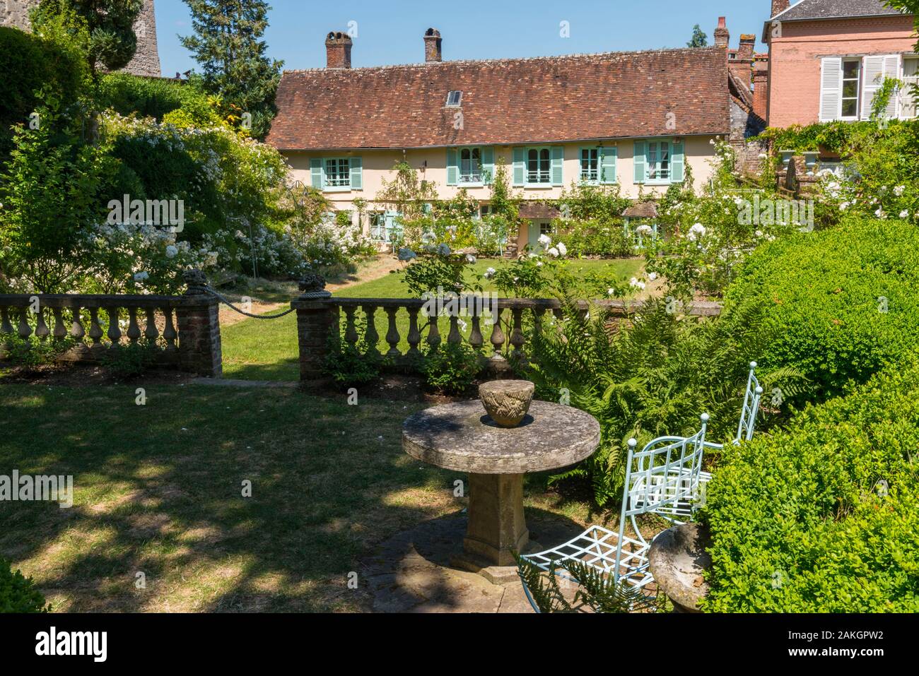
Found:
[[[461,107],[445,107],[451,90]],[[729,100],[718,48],[288,71],[267,141],[398,149],[722,134]]]

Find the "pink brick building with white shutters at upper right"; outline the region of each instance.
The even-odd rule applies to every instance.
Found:
[[[913,17],[882,0],[772,0],[766,118],[770,127],[867,119],[887,77],[917,82]],[[888,117],[916,117],[908,87]]]

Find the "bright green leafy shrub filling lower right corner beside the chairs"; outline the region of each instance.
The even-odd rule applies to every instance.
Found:
[[[919,611],[919,361],[724,451],[701,519],[712,612]]]

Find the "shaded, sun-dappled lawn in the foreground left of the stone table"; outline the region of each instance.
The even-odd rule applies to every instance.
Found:
[[[74,476],[71,509],[0,502],[0,555],[56,610],[367,610],[346,585],[358,562],[466,504],[453,497],[463,475],[402,451],[418,404],[145,387],[139,406],[135,385],[0,386],[0,473]],[[584,524],[583,503],[543,486],[528,478],[529,510]]]

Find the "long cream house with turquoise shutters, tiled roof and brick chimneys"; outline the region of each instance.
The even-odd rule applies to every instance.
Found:
[[[660,196],[684,181],[686,167],[701,185],[711,174],[712,141],[743,139],[755,117],[752,49],[742,80],[729,68],[726,41],[454,62],[444,61],[436,29],[424,44],[424,63],[352,69],[351,38],[329,33],[325,68],[283,74],[267,137],[293,175],[321,188],[336,210],[355,220],[353,200],[367,200],[361,225],[381,243],[398,214],[373,201],[397,162],[436,184],[439,198],[465,188],[484,214],[503,160],[525,199],[525,220],[509,242],[522,249],[550,228],[551,209],[540,200],[577,182]]]

